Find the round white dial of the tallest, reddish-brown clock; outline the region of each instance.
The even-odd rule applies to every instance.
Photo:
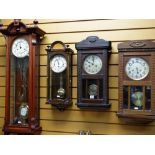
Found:
[[[29,55],[29,44],[23,38],[15,39],[12,44],[12,53],[17,58],[24,58]]]

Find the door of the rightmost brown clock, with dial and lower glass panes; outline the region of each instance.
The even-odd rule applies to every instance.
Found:
[[[144,54],[143,54],[144,55]],[[123,86],[123,107],[133,112],[151,110],[150,55],[125,56],[124,76],[128,84]],[[143,80],[143,81],[142,81]],[[127,82],[122,82],[127,83]]]

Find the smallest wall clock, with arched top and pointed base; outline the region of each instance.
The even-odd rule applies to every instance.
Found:
[[[72,49],[55,41],[47,46],[48,96],[47,103],[59,110],[72,105]]]

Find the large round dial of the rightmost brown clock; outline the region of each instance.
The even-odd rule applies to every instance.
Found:
[[[142,58],[130,58],[126,63],[125,72],[130,79],[142,80],[149,74],[149,65]]]

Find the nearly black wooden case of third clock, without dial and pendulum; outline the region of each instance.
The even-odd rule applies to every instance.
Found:
[[[106,109],[111,105],[108,102],[108,58],[111,42],[89,36],[75,45],[77,49],[78,99],[79,108]],[[83,69],[84,59],[89,55],[96,55],[102,60],[102,69],[97,74],[88,74]],[[97,97],[88,97],[88,86],[95,83],[98,86]]]

